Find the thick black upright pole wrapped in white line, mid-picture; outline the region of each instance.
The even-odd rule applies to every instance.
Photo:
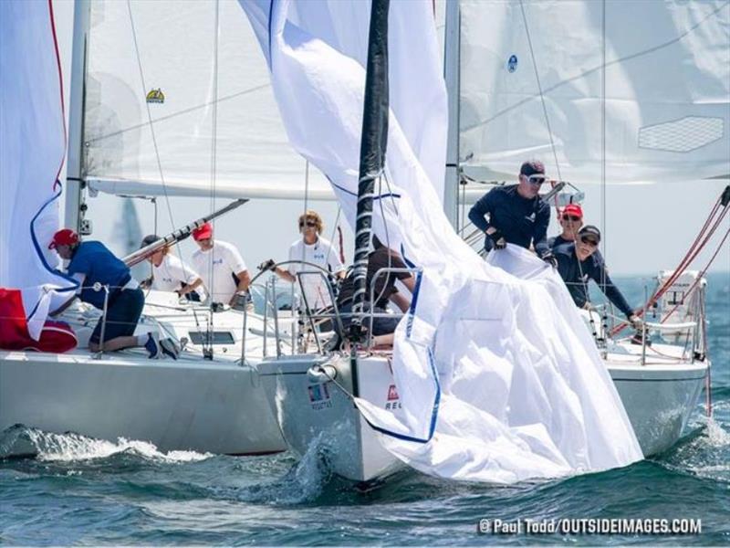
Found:
[[[372,231],[372,198],[375,180],[381,177],[388,144],[388,9],[390,0],[372,0],[368,41],[368,73],[360,139],[358,212],[355,219],[354,294],[350,342],[362,340],[362,318],[367,292],[368,249]]]

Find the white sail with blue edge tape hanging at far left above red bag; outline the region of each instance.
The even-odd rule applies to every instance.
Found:
[[[45,288],[72,285],[53,272],[58,256],[47,248],[66,153],[51,16],[47,2],[0,2],[0,287],[21,290],[36,340],[64,299]]]

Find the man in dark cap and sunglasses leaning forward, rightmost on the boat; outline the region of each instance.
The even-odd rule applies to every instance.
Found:
[[[582,227],[575,242],[560,244],[553,248],[558,259],[558,273],[568,286],[573,302],[580,308],[590,308],[588,281],[592,279],[606,297],[629,319],[634,326],[641,321],[624,299],[620,290],[611,281],[608,269],[597,253],[600,230],[592,225]]]

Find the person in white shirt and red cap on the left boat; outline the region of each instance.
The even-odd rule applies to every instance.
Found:
[[[214,240],[210,223],[195,228],[193,239],[199,247],[193,253],[193,268],[200,273],[210,299],[239,309],[245,307],[251,277],[238,249]]]

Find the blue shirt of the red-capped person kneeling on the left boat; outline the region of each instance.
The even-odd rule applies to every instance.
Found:
[[[130,280],[130,269],[101,242],[81,242],[76,248],[71,262],[68,263],[68,274],[86,276],[79,298],[104,308],[104,290],[92,289],[95,283],[109,284],[110,295],[121,289]]]

